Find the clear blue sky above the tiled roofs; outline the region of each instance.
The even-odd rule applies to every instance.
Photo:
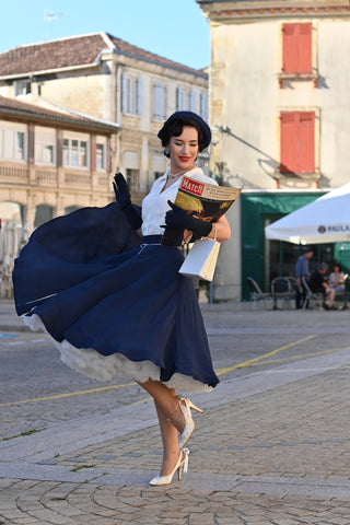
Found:
[[[8,0],[0,52],[101,31],[195,69],[210,63],[209,25],[196,0]]]

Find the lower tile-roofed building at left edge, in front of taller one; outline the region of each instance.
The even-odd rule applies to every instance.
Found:
[[[0,264],[7,277],[34,228],[114,198],[110,144],[118,130],[0,95]]]

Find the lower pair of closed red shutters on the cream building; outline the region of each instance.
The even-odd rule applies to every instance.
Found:
[[[315,173],[315,112],[281,112],[281,173]]]

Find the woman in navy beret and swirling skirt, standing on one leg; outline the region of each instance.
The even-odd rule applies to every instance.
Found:
[[[175,471],[180,478],[187,465],[185,445],[195,429],[190,410],[200,409],[176,390],[203,392],[219,382],[191,280],[178,273],[183,255],[160,244],[164,226],[180,231],[178,244],[191,234],[219,241],[231,234],[224,217],[211,224],[173,205],[185,173],[213,184],[195,165],[210,144],[208,125],[194,113],[177,112],[159,138],[170,168],[143,200],[142,219],[117,174],[118,210],[117,203],[83,209],[45,224],[13,273],[18,313],[54,338],[63,362],[100,380],[128,375],[152,396],[164,452],[152,486],[171,483]]]

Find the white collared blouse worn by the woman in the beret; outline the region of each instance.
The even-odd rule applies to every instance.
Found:
[[[154,180],[151,191],[142,201],[142,235],[163,235],[164,233],[164,228],[161,228],[161,225],[165,224],[165,213],[171,209],[167,201],[174,202],[183,178],[179,177],[176,183],[162,191],[168,172],[170,170],[162,177]],[[205,175],[200,167],[194,167],[186,172],[185,175],[201,183],[218,185],[215,180]]]

